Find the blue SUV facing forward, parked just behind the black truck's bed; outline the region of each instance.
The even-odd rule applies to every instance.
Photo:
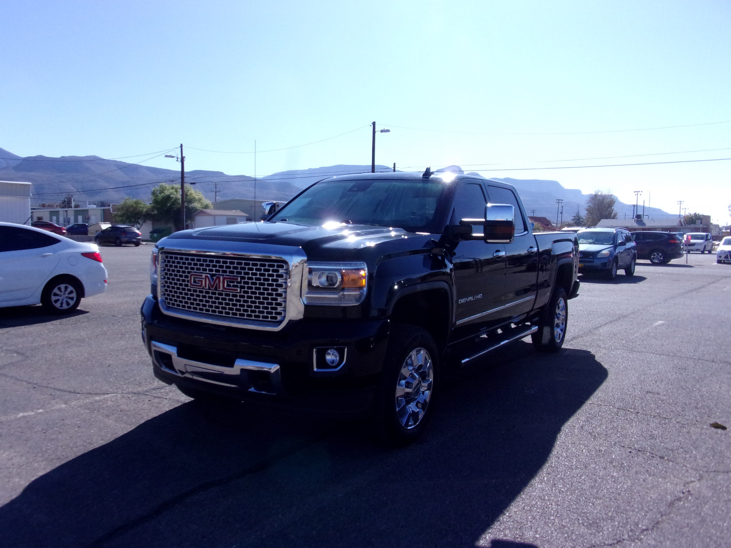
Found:
[[[579,272],[598,272],[613,280],[617,270],[635,275],[637,246],[626,229],[591,228],[576,233],[579,239]]]

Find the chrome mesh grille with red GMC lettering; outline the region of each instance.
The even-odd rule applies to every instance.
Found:
[[[281,322],[287,315],[288,276],[282,259],[161,251],[159,296],[163,311],[207,314],[224,322]]]

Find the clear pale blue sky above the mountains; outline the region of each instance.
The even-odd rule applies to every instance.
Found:
[[[728,222],[731,4],[716,1],[5,0],[0,147],[105,158],[284,148],[366,126],[376,161],[632,191]],[[417,131],[394,126],[431,129]],[[513,134],[513,135],[510,135]],[[534,135],[515,135],[534,134]],[[543,134],[543,135],[537,135]],[[605,156],[730,150],[572,160]],[[257,155],[257,175],[368,164],[370,129]],[[134,160],[133,160],[134,161]],[[169,159],[147,163],[175,169]],[[251,154],[186,153],[251,175]],[[470,168],[468,168],[470,169]],[[641,202],[640,199],[640,202]]]

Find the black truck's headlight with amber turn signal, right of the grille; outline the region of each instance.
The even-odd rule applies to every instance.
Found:
[[[366,297],[368,269],[363,262],[311,262],[303,300],[308,305],[358,305]]]

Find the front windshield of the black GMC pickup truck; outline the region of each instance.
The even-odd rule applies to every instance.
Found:
[[[428,180],[333,180],[318,183],[270,221],[314,227],[327,222],[375,224],[409,232],[442,232],[439,205],[449,185]]]

